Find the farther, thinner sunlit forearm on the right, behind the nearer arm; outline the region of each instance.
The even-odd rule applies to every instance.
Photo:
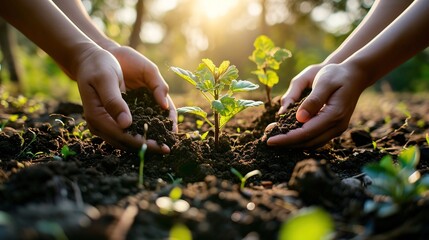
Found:
[[[325,64],[341,63],[361,49],[391,22],[393,22],[413,0],[377,0],[359,27],[357,27],[324,61]]]

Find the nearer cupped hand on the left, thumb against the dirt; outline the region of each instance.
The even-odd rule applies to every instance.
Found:
[[[124,132],[131,125],[132,116],[121,95],[126,87],[116,58],[97,47],[86,50],[77,63],[76,81],[89,130],[116,147],[140,148],[143,138]],[[153,140],[147,144],[150,151],[170,151]]]

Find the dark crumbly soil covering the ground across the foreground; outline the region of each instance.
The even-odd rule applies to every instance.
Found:
[[[16,106],[14,98],[2,100],[0,239],[168,239],[179,225],[193,239],[278,239],[282,224],[311,206],[332,216],[334,239],[429,239],[427,194],[380,218],[363,211],[365,201],[376,196],[361,175],[365,164],[386,154],[395,157],[411,145],[421,150],[420,172],[428,171],[425,96],[369,96],[370,107],[357,108],[349,129],[315,150],[272,149],[261,140],[273,121],[279,132],[269,134],[299,127],[298,105],[283,116],[275,114],[278,101],[266,110],[243,111],[215,147],[212,135],[201,140],[194,132],[192,116],[172,134],[168,111],[145,90],[123,97],[134,120],[127,131],[171,148],[165,156],[146,154],[143,188],[137,186],[137,153],[91,136],[80,106],[37,101]],[[398,108],[404,104],[409,119],[404,107]],[[6,122],[13,115],[18,120]],[[64,146],[76,154],[66,156]],[[262,175],[240,190],[231,168],[243,175],[258,169]],[[189,208],[157,205],[175,187]]]

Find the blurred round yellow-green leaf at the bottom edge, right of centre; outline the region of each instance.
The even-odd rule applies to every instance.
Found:
[[[302,208],[282,224],[278,239],[332,239],[333,230],[334,221],[325,210],[316,207]]]

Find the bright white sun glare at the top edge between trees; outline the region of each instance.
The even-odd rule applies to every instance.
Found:
[[[226,15],[236,4],[237,0],[197,0],[196,9],[209,19],[216,19]]]

